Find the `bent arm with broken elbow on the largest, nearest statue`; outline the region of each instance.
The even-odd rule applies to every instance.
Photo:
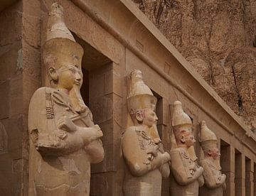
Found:
[[[28,130],[36,149],[43,155],[61,156],[78,151],[91,141],[102,136],[101,131],[93,127],[75,126],[66,118],[67,127],[75,127],[75,131],[58,129],[55,119],[48,119],[46,115],[46,87],[37,89],[31,98],[28,111]],[[85,130],[86,129],[86,130]]]

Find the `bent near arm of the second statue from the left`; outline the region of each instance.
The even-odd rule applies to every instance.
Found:
[[[122,152],[129,170],[134,176],[149,173],[149,171],[159,168],[170,160],[169,153],[158,153],[153,160],[147,160],[148,163],[144,163],[146,160],[143,159],[145,156],[142,155],[142,150],[139,148],[137,133],[132,129],[127,129],[124,133]]]

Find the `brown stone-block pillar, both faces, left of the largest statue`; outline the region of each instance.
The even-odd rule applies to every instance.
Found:
[[[28,104],[41,86],[41,16],[36,4],[17,1],[0,13],[1,195],[26,195]]]

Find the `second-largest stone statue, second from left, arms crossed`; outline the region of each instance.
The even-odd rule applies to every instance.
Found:
[[[156,129],[156,97],[142,80],[142,72],[130,74],[131,89],[127,106],[132,126],[122,138],[122,152],[127,168],[125,196],[161,195],[161,180],[169,177],[169,153],[164,152]]]

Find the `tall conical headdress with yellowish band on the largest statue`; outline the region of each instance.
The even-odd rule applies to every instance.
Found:
[[[43,60],[46,67],[50,67],[53,63],[55,67],[80,66],[82,55],[82,47],[75,42],[65,26],[63,7],[59,3],[52,4],[48,18],[46,43],[43,46]]]

